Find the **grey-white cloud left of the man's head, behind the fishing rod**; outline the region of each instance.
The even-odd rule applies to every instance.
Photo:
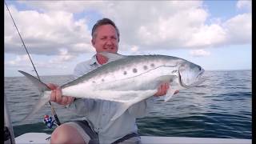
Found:
[[[58,54],[65,47],[71,54],[92,51],[90,30],[86,19],[74,20],[74,14],[66,11],[48,11],[39,13],[35,10],[18,11],[10,6],[10,11],[17,23],[26,47],[31,54]],[[24,54],[22,42],[5,11],[5,52]]]

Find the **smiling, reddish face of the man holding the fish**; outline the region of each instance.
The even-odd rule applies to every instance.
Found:
[[[103,25],[98,26],[95,30],[96,37],[91,40],[92,45],[97,53],[106,51],[110,53],[117,53],[118,51],[118,34],[114,26]]]

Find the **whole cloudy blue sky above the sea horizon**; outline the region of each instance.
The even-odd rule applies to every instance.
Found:
[[[91,28],[110,18],[120,30],[119,54],[164,54],[205,70],[251,70],[251,0],[8,1],[39,75],[73,74],[90,59]],[[5,77],[35,74],[5,6]]]

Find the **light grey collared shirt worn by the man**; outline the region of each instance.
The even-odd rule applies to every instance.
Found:
[[[96,55],[94,55],[90,60],[78,63],[74,68],[74,78],[95,70],[99,66],[101,65],[98,63]],[[74,110],[77,114],[86,118],[94,131],[98,133],[100,143],[111,143],[126,134],[137,133],[138,127],[135,118],[146,116],[150,108],[153,107],[154,99],[154,97],[150,97],[145,101],[130,106],[122,116],[114,121],[110,121],[110,116],[116,112],[113,102],[77,98],[68,106],[68,109]]]

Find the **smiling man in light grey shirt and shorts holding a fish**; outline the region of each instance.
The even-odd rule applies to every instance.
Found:
[[[106,63],[108,59],[100,55],[100,52],[117,53],[119,36],[114,22],[108,18],[99,20],[92,29],[91,40],[96,54],[89,61],[81,62],[75,67],[74,77],[78,78]],[[84,121],[66,122],[58,126],[51,136],[51,143],[140,143],[135,118],[145,116],[153,105],[154,98],[165,95],[169,88],[168,83],[163,83],[154,97],[130,106],[122,116],[112,122],[110,115],[115,111],[113,103],[62,96],[58,86],[48,86],[52,89],[51,102],[69,105],[70,110],[86,117]]]

